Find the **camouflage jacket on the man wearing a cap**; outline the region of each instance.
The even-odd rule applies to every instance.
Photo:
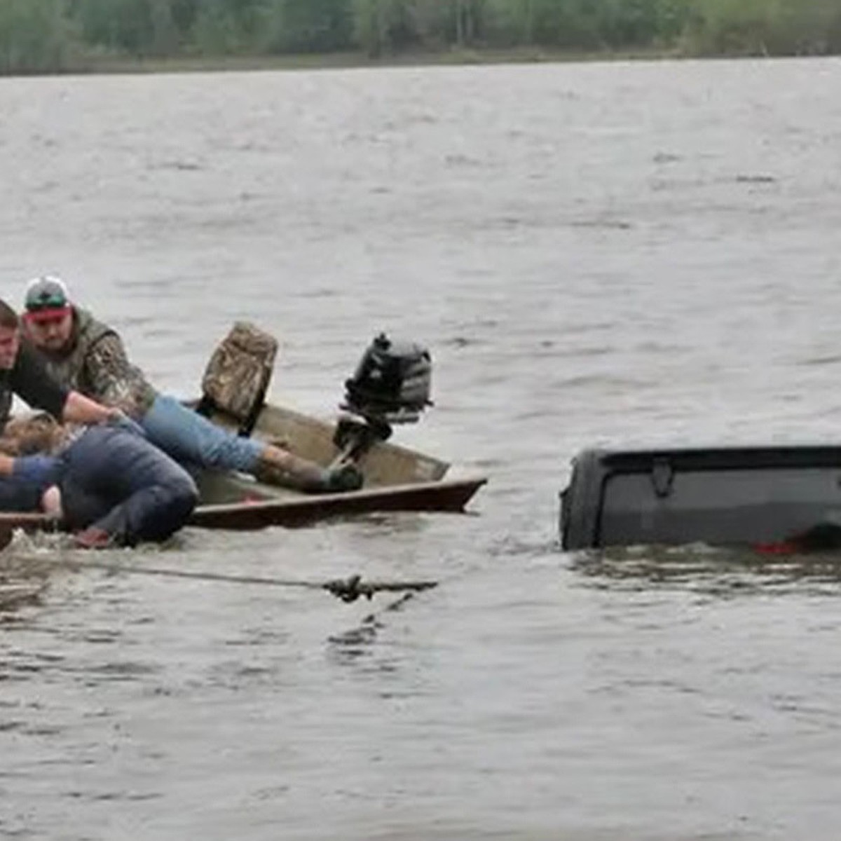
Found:
[[[73,332],[66,351],[43,353],[47,370],[59,383],[135,419],[151,408],[156,391],[129,362],[116,331],[73,308]]]

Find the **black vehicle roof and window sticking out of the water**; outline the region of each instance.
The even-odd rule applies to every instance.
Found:
[[[560,507],[569,550],[841,547],[841,447],[584,450]]]

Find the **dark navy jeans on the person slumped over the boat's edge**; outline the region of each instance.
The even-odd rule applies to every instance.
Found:
[[[169,537],[198,500],[181,465],[120,427],[89,427],[61,454],[61,469],[66,524],[101,528],[129,546]]]

